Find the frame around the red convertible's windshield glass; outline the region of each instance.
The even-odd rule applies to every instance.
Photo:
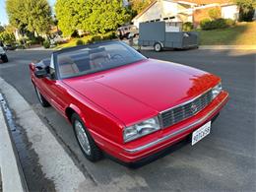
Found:
[[[60,55],[62,53],[68,53],[68,52],[71,52],[71,51],[77,51],[77,50],[84,49],[84,48],[95,48],[95,47],[98,47],[100,45],[107,45],[107,44],[112,44],[112,43],[120,43],[123,46],[125,46],[125,48],[127,48],[128,50],[135,51],[136,54],[139,54],[142,58],[137,60],[137,61],[132,61],[132,62],[128,62],[128,63],[125,63],[125,64],[120,64],[120,65],[111,66],[111,67],[107,67],[107,68],[99,68],[99,69],[91,70],[91,71],[88,71],[88,72],[87,71],[81,72],[77,75],[61,77],[60,71],[59,71],[59,65],[58,65],[58,55]],[[121,67],[121,66],[129,65],[129,64],[136,63],[136,62],[147,59],[147,57],[142,55],[136,49],[134,49],[133,47],[127,45],[126,43],[124,43],[120,40],[104,40],[104,41],[99,41],[99,42],[90,43],[90,44],[86,44],[86,45],[79,45],[79,46],[64,48],[64,49],[61,49],[61,50],[54,51],[52,53],[52,56],[53,56],[53,63],[54,63],[54,67],[55,67],[55,73],[56,73],[55,77],[58,80],[71,79],[71,78],[86,76],[86,75],[90,75],[90,74],[95,74],[97,72],[107,71],[107,70],[110,70],[110,69],[118,68],[118,67]]]

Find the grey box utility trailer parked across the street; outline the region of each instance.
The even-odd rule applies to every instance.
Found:
[[[165,22],[141,23],[139,46],[153,46],[160,52],[163,48],[193,48],[198,47],[197,32],[171,32],[171,26]]]

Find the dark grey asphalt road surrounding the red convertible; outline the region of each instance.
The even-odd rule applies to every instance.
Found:
[[[71,125],[53,108],[40,107],[28,64],[49,54],[50,51],[10,51],[10,62],[0,63],[0,77],[32,104],[72,160],[96,183],[118,185],[120,190],[128,191],[255,191],[256,51],[144,51],[148,57],[186,64],[221,76],[230,100],[213,124],[211,134],[197,145],[182,143],[160,159],[137,169],[129,169],[108,158],[89,162],[76,143]]]

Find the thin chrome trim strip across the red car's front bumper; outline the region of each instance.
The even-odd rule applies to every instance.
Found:
[[[206,119],[208,119],[210,116],[212,116],[213,113],[216,112],[216,110],[224,103],[224,101],[225,101],[225,99],[226,99],[227,97],[228,97],[228,94],[227,94],[227,96],[224,97],[224,99],[222,100],[222,102],[220,102],[214,109],[212,109],[207,115],[205,115],[205,116],[204,116],[203,118],[201,118],[200,120],[195,121],[194,123],[192,123],[192,124],[190,124],[190,125],[188,125],[188,126],[186,126],[186,127],[183,127],[182,129],[179,129],[179,130],[176,131],[176,132],[170,133],[169,135],[166,135],[166,136],[164,136],[164,137],[162,137],[162,138],[160,138],[160,139],[158,139],[158,140],[156,140],[156,141],[154,141],[154,142],[151,142],[151,143],[149,143],[149,144],[146,144],[146,145],[144,145],[144,146],[141,146],[141,147],[138,147],[138,148],[134,148],[134,149],[124,149],[124,151],[125,151],[125,152],[128,152],[128,153],[130,153],[130,154],[134,154],[134,153],[136,153],[136,152],[140,152],[140,151],[146,150],[147,148],[150,148],[150,147],[152,147],[152,146],[155,146],[155,145],[157,145],[157,144],[159,144],[159,143],[161,143],[161,142],[164,142],[165,140],[168,140],[168,139],[170,139],[170,138],[172,138],[172,137],[175,137],[176,135],[178,135],[178,134],[180,134],[180,133],[182,133],[182,132],[187,131],[188,129],[190,129],[190,128],[192,128],[192,127],[194,127],[194,126],[196,126],[196,125],[202,123],[203,121],[205,121]]]

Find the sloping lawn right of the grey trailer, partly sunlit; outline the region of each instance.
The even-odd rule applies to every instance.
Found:
[[[256,45],[256,22],[223,30],[199,31],[201,45]]]

